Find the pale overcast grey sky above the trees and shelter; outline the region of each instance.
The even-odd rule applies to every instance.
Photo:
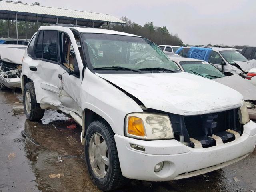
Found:
[[[32,4],[35,0],[22,0]],[[37,0],[42,6],[166,26],[184,44],[256,45],[255,0]]]

